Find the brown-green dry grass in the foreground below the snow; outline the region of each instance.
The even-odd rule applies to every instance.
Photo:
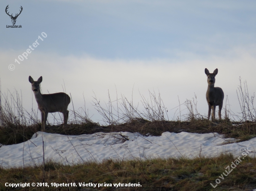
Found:
[[[234,161],[232,155],[196,159],[105,160],[63,166],[51,161],[43,166],[0,169],[0,190],[8,183],[76,183],[77,187],[58,187],[59,191],[250,191],[256,188],[256,159],[246,157],[213,189],[215,180]],[[230,167],[231,168],[231,167]],[[79,183],[108,183],[112,187],[80,187]],[[141,187],[114,187],[113,184],[140,183]],[[30,187],[32,189],[32,187]],[[37,187],[39,190],[56,190],[54,187]],[[12,190],[12,189],[9,189]],[[17,188],[16,190],[28,190]]]

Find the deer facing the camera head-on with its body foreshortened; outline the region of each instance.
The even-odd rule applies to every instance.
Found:
[[[212,120],[215,120],[215,109],[216,106],[219,106],[219,119],[222,119],[221,111],[222,111],[222,105],[223,105],[223,99],[224,99],[224,92],[219,87],[214,87],[215,84],[215,76],[218,73],[218,69],[213,71],[213,73],[210,73],[209,70],[206,68],[204,70],[206,76],[207,76],[207,83],[208,83],[208,89],[206,92],[206,100],[208,103],[208,120],[210,119],[211,115],[211,109],[212,109]]]

